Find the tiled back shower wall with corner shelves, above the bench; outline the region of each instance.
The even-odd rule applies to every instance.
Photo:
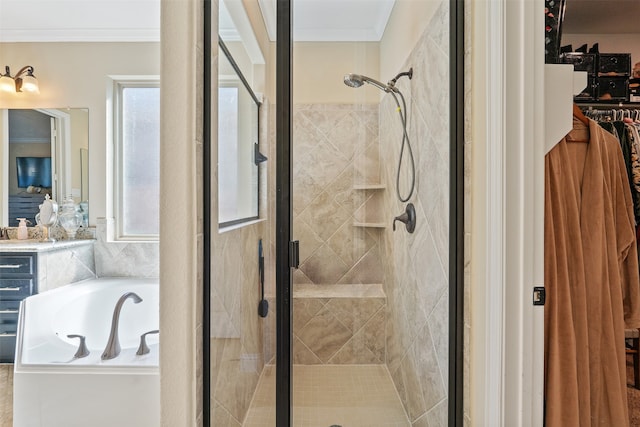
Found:
[[[298,104],[293,113],[294,283],[381,283],[378,106]]]

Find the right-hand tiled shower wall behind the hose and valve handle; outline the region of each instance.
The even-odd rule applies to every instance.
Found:
[[[416,162],[417,214],[413,234],[400,227],[382,238],[389,306],[387,366],[412,425],[447,425],[449,360],[449,13],[443,2],[406,63],[413,79],[398,87],[408,104],[409,135]],[[396,104],[380,104],[383,181],[395,185],[402,140]],[[406,149],[405,149],[406,150]],[[404,153],[408,160],[407,152]],[[408,192],[408,163],[401,192]],[[393,218],[406,203],[385,192],[384,212]]]

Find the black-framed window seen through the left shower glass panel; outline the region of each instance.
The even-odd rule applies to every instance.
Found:
[[[221,43],[218,76],[218,224],[258,218],[259,102]]]

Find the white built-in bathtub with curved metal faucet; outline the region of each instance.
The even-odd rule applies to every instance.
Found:
[[[113,309],[126,292],[119,319],[120,354],[101,355]],[[136,355],[140,335],[158,329],[157,279],[99,278],[26,298],[20,306],[14,365],[14,426],[107,427],[160,425],[159,335]],[[89,355],[74,358],[86,337]]]

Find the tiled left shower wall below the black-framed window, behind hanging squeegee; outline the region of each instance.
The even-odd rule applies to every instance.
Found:
[[[259,172],[261,220],[222,233],[213,232],[210,405],[215,426],[242,425],[264,364],[275,353],[275,303],[271,298],[275,288],[275,197],[268,193],[275,188],[276,157],[270,107],[264,102],[260,108],[260,151],[270,159]],[[217,193],[217,183],[214,186]],[[217,209],[216,203],[212,205]],[[265,296],[270,306],[264,319],[258,316],[260,239],[265,256]]]

